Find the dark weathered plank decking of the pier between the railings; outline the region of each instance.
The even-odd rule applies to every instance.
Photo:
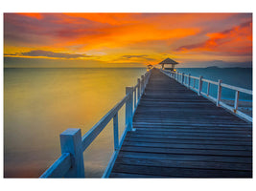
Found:
[[[251,178],[252,125],[152,69],[110,178]]]

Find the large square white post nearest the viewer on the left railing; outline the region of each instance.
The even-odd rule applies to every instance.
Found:
[[[71,168],[66,178],[84,178],[83,151],[81,148],[81,129],[67,129],[60,134],[61,154],[70,153]]]

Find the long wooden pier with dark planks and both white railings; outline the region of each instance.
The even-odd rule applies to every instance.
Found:
[[[221,101],[221,87],[235,91],[234,107]],[[82,154],[111,120],[114,152],[103,178],[252,178],[252,117],[239,110],[240,93],[252,95],[221,80],[151,69],[85,135],[61,133],[61,156],[40,178],[84,178]]]

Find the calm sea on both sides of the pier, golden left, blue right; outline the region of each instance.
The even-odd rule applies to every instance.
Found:
[[[251,89],[251,69],[178,69]],[[4,177],[39,177],[60,156],[59,134],[84,135],[146,69],[5,69]],[[226,98],[231,98],[227,94]],[[246,98],[246,97],[244,97]],[[247,97],[248,98],[248,97]],[[119,112],[121,136],[125,107]],[[101,177],[113,152],[112,121],[84,152],[86,177]]]

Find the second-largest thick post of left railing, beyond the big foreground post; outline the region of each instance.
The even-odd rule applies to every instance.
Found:
[[[128,126],[128,131],[132,127],[132,90],[133,87],[126,87],[126,95],[128,95],[126,103],[126,125]]]

